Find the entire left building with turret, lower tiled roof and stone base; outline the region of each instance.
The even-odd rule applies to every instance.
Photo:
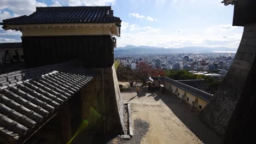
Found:
[[[126,134],[113,65],[120,23],[111,7],[45,7],[3,20],[22,32],[28,69],[0,75],[0,143],[67,143],[84,122],[89,134]]]

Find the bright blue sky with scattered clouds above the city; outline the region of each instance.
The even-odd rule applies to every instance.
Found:
[[[36,7],[112,5],[121,18],[118,46],[238,47],[243,27],[232,27],[233,5],[221,0],[1,0],[0,20],[29,15]],[[21,33],[0,30],[0,42],[21,41]]]

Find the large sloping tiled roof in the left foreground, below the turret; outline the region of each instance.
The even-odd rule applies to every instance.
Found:
[[[0,75],[0,135],[26,140],[93,78],[73,62]]]

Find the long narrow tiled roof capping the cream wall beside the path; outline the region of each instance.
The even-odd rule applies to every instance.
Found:
[[[152,79],[153,80],[159,80],[159,77],[152,77]],[[202,100],[205,100],[207,102],[209,102],[213,98],[213,95],[210,94],[210,93],[203,92],[200,89],[191,87],[189,85],[186,85],[184,83],[178,82],[178,81],[173,80],[173,79],[170,79],[168,77],[160,77],[160,79],[161,79],[161,81],[168,82],[171,85],[173,85],[175,87],[178,87],[178,88],[182,89],[183,91],[185,91],[187,93],[190,93],[190,94],[194,95],[195,97],[197,97],[199,99],[202,99]]]

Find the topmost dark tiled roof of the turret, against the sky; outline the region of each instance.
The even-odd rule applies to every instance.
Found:
[[[3,20],[2,25],[120,22],[111,7],[37,7],[33,14]]]

